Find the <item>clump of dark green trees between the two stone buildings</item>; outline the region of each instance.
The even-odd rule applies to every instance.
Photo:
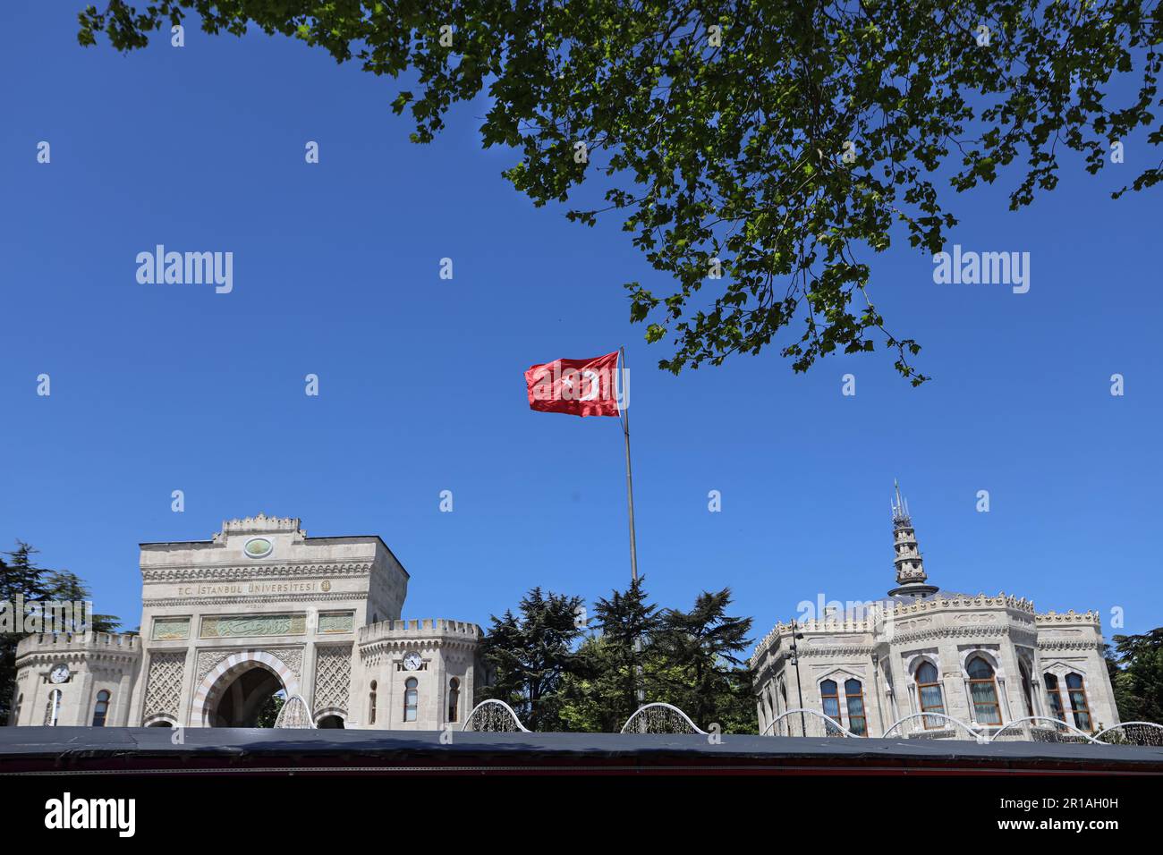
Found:
[[[701,593],[690,612],[659,610],[644,578],[599,599],[588,634],[578,597],[534,589],[520,617],[493,618],[481,649],[490,685],[531,731],[618,733],[642,704],[678,706],[700,727],[755,733],[750,674],[737,655],[750,618],[727,615],[730,591]],[[568,622],[569,620],[569,622]]]

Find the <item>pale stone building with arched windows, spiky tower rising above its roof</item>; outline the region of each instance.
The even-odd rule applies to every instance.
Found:
[[[835,731],[787,714],[797,708],[861,736],[1037,739],[1119,724],[1097,612],[1040,614],[1005,593],[942,591],[928,584],[899,489],[892,523],[887,598],[778,624],[756,647],[761,733]]]

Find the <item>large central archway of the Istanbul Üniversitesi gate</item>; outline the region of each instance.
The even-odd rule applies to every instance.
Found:
[[[276,693],[299,693],[299,681],[283,661],[263,650],[227,656],[194,691],[193,721],[202,727],[257,727]]]

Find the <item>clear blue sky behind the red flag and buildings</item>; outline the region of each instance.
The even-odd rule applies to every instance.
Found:
[[[1163,624],[1160,197],[1108,198],[1157,150],[1066,170],[1019,213],[1005,181],[946,197],[950,243],[1030,252],[1026,294],[935,285],[902,236],[873,258],[890,328],[925,348],[921,389],[883,351],[793,375],[772,348],[676,378],[621,288],[663,280],[616,221],[515,192],[513,156],[480,149],[483,102],[414,145],[395,86],[356,65],[195,29],[180,50],[81,49],[79,6],[0,13],[0,544],[79,573],[127,627],[137,543],[259,511],[381,535],[412,575],[407,618],[485,624],[533,585],[591,603],[625,586],[619,425],[530,412],[522,379],[620,344],[658,603],[729,585],[758,639],[819,593],[883,594],[898,477],[936,584],[1098,608],[1107,634]],[[137,284],[157,243],[233,251],[233,293]]]

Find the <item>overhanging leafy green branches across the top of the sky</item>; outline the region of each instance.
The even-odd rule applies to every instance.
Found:
[[[541,206],[590,180],[569,216],[619,212],[670,280],[626,287],[676,373],[782,333],[797,371],[879,341],[919,384],[869,257],[899,231],[940,251],[957,223],[941,190],[1012,168],[1016,209],[1054,188],[1064,151],[1096,173],[1136,130],[1140,166],[1113,195],[1163,177],[1157,0],[109,0],[78,40],[142,48],[191,12],[207,33],[255,24],[408,76],[393,109],[416,142],[486,93],[481,142],[519,154],[513,185]]]

